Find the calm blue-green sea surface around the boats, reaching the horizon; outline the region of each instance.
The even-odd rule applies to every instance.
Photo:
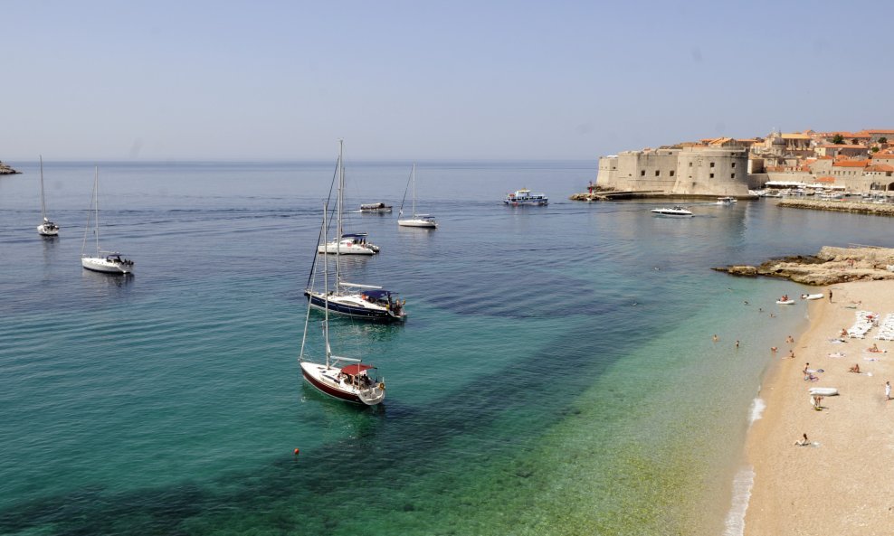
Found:
[[[774,302],[807,289],[710,268],[894,245],[887,219],[766,200],[690,201],[685,220],[567,201],[595,162],[417,163],[417,211],[441,227],[404,229],[411,163],[348,159],[347,207],[395,213],[347,214],[381,253],[342,268],[409,312],[332,319],[333,350],[387,383],[358,408],[298,363],[335,155],[99,163],[100,246],[133,277],[81,268],[92,163],[44,158],[56,239],[35,230],[36,162],[10,164],[2,534],[736,533],[769,347],[806,322]],[[501,204],[522,187],[550,204]]]

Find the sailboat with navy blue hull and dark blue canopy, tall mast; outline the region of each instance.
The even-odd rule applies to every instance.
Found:
[[[341,207],[342,189],[345,183],[345,168],[342,164],[342,145],[343,142],[339,140],[338,166],[336,169],[336,173],[338,174],[338,208]],[[341,214],[342,212],[338,210],[338,236],[345,236],[342,235],[341,232]],[[326,229],[324,228],[320,232],[321,238],[318,240],[318,244],[320,241],[326,240]],[[329,244],[332,244],[332,242],[329,242]],[[318,253],[323,253],[324,251],[320,248],[322,248],[322,246],[318,245]],[[333,247],[331,252],[334,252],[336,255],[336,289],[332,292],[320,292],[319,290],[314,290],[310,285],[310,278],[312,278],[314,274],[314,268],[311,268],[310,277],[308,279],[308,288],[304,291],[304,296],[308,296],[310,306],[323,309],[327,312],[331,311],[338,315],[366,318],[368,320],[395,322],[403,321],[406,318],[406,312],[404,311],[405,300],[404,302],[401,302],[400,297],[396,292],[385,290],[382,287],[342,281],[340,257],[345,254],[346,249]],[[323,256],[324,262],[327,257],[327,255]],[[315,256],[314,267],[316,267],[316,265],[317,257]]]

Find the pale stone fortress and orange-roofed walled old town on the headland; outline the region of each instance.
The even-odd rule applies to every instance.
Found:
[[[596,177],[600,190],[693,196],[797,186],[894,194],[894,130],[772,132],[624,151],[601,157]]]

